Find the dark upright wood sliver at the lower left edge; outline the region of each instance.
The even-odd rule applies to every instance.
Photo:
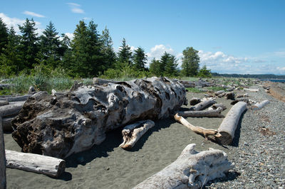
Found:
[[[0,188],[6,188],[6,157],[4,135],[2,129],[2,118],[0,115]]]

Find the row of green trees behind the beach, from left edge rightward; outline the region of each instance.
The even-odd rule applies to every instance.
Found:
[[[59,36],[52,22],[41,36],[35,26],[33,18],[26,18],[19,25],[21,34],[18,34],[13,27],[7,28],[0,18],[0,75],[30,74],[40,66],[48,70],[66,70],[71,77],[211,76],[206,66],[199,69],[198,51],[192,47],[183,50],[182,70],[177,68],[175,55],[166,52],[160,60],[152,59],[147,68],[143,48],[138,47],[132,52],[123,38],[118,53],[115,53],[108,28],[99,32],[94,21],[79,21],[72,40],[65,34]]]

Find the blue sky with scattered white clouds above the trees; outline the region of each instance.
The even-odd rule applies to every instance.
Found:
[[[33,18],[38,33],[52,21],[72,37],[76,24],[105,26],[118,50],[125,38],[148,59],[167,51],[181,64],[182,50],[199,50],[200,65],[220,73],[285,75],[285,1],[2,1],[8,26]]]

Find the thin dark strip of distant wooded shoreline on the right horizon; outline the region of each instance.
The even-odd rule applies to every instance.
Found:
[[[258,79],[285,79],[285,75],[274,75],[274,74],[220,74],[217,72],[212,72],[212,76],[244,77],[244,78],[258,78]]]

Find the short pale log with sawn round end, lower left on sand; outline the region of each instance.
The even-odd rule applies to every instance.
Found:
[[[17,168],[58,178],[66,169],[66,161],[60,158],[34,153],[6,150],[7,168]]]

